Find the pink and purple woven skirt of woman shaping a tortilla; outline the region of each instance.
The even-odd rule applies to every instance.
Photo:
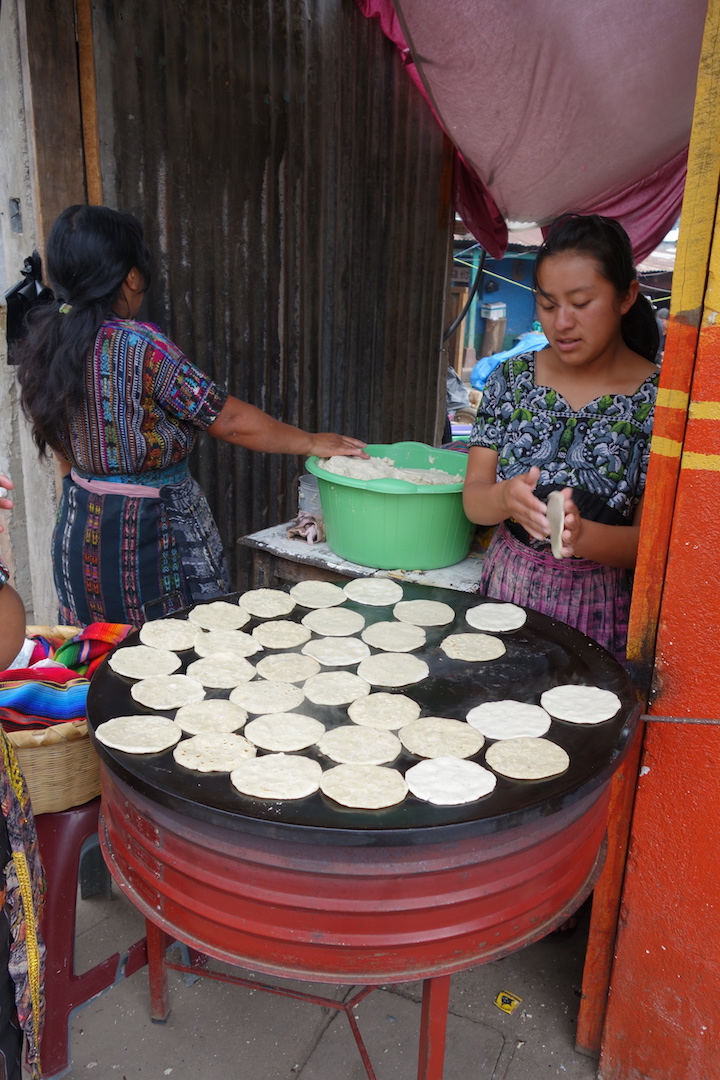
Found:
[[[478,593],[534,608],[594,638],[625,663],[630,575],[589,558],[558,559],[498,526],[483,563]]]

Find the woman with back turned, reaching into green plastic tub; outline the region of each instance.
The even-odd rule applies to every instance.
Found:
[[[365,445],[231,397],[137,322],[149,261],[131,214],[68,207],[47,241],[56,302],[31,312],[15,350],[35,441],[65,474],[53,564],[59,617],[73,625],[140,625],[229,592],[217,526],[188,471],[198,429],[275,454],[362,456]]]

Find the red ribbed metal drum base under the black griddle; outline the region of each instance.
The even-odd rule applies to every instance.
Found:
[[[450,974],[547,933],[592,888],[609,797],[606,783],[501,832],[343,847],[220,828],[103,779],[106,861],[155,926],[254,971],[369,985]]]

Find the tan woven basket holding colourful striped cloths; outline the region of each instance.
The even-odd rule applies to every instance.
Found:
[[[100,794],[99,759],[87,720],[8,731],[32,801],[32,812],[56,813]]]

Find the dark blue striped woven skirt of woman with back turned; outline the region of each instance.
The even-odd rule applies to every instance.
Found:
[[[217,526],[187,471],[149,498],[97,494],[66,476],[53,570],[59,621],[74,626],[139,626],[230,589]]]

